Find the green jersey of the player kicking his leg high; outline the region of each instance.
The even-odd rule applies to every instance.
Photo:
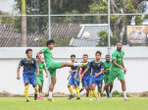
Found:
[[[46,48],[43,48],[41,51],[44,55],[46,66],[49,67],[50,63],[54,61],[51,50],[46,47]]]

